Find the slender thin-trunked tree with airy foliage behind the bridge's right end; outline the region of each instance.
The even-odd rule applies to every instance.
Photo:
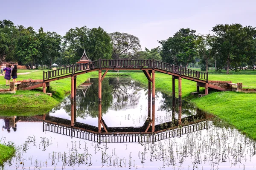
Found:
[[[209,60],[213,57],[212,46],[214,43],[214,36],[210,34],[199,35],[195,43],[201,59],[205,62],[206,71],[208,71]]]

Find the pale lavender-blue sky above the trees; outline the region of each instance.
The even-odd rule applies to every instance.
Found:
[[[159,46],[180,28],[208,34],[216,24],[256,27],[256,0],[0,0],[0,20],[64,36],[71,28],[102,27]]]

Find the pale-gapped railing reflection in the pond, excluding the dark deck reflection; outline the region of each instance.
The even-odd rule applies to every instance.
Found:
[[[76,127],[56,125],[50,122],[43,122],[43,131],[49,131],[65,136],[71,136],[80,139],[86,139],[88,141],[102,143],[157,142],[177,136],[182,136],[187,133],[193,133],[199,130],[204,130],[207,128],[208,121],[203,121],[175,129],[167,129],[166,131],[155,134],[99,134],[96,132],[91,132]]]

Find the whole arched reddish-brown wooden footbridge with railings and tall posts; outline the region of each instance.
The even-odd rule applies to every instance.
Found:
[[[102,75],[102,70],[105,72]],[[205,88],[205,94],[208,94],[208,87],[218,90],[225,90],[217,85],[211,85],[208,82],[208,72],[195,71],[182,66],[172,65],[165,62],[160,62],[154,59],[99,59],[90,61],[79,65],[72,65],[66,68],[60,68],[52,71],[44,71],[43,74],[43,92],[46,93],[46,87],[49,82],[71,77],[71,113],[76,114],[76,76],[85,74],[91,71],[99,71],[99,114],[98,114],[98,133],[102,133],[102,126],[104,133],[108,133],[106,125],[102,119],[102,81],[108,70],[141,70],[148,79],[148,118],[149,124],[144,131],[155,132],[155,71],[169,74],[172,76],[172,97],[173,97],[173,112],[175,112],[175,79],[178,79],[178,94],[179,94],[179,122],[181,123],[181,80],[188,79],[197,82],[197,92],[199,87]],[[151,87],[152,86],[152,87]],[[151,90],[152,88],[152,90]],[[152,97],[152,103],[151,103]],[[71,125],[74,125],[74,119],[71,117]],[[151,128],[150,128],[151,127]]]

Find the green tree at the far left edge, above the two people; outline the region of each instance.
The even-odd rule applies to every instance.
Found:
[[[17,28],[10,20],[0,21],[0,64],[5,59],[13,59],[15,43],[17,40]]]

